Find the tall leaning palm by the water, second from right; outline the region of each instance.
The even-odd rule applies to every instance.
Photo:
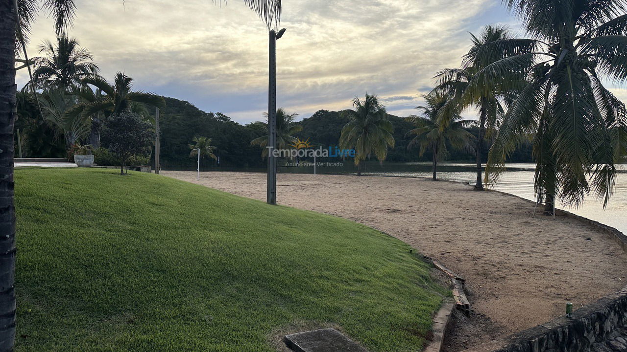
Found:
[[[510,38],[508,29],[505,26],[485,26],[480,36],[472,37],[473,46],[465,55],[461,68],[446,68],[436,75],[438,85],[435,90],[450,93],[453,99],[450,103],[459,105],[461,109],[477,108],[479,110],[479,135],[477,138],[477,183],[475,190],[483,190],[482,160],[483,144],[485,138],[490,137],[498,120],[502,120],[504,115],[500,98],[507,95],[507,91],[502,91],[497,85],[490,85],[486,81],[479,81],[470,85],[475,74],[483,67],[493,62],[478,60],[477,52],[488,43]],[[441,111],[445,111],[442,109]]]

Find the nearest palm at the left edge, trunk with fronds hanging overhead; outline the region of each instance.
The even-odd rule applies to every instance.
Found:
[[[13,202],[13,122],[16,111],[16,44],[26,41],[38,9],[55,19],[56,34],[64,32],[74,14],[73,0],[17,0],[0,2],[0,352],[12,351],[15,339],[15,207]],[[19,11],[18,11],[19,9]],[[18,14],[19,13],[19,14]],[[24,46],[24,45],[23,45]],[[25,50],[25,49],[24,49]],[[26,58],[24,58],[26,60]],[[26,60],[28,62],[28,60]]]

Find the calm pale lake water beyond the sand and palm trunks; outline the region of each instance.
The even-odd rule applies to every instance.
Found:
[[[451,180],[475,184],[477,173],[476,165],[470,163],[441,163],[438,165],[438,179]],[[574,214],[601,222],[627,234],[627,165],[618,165],[619,173],[616,178],[616,189],[609,200],[608,206],[603,209],[603,202],[587,197],[579,208],[565,207],[559,204],[559,209],[568,210]],[[525,199],[535,200],[534,197],[534,170],[535,164],[510,164],[507,171],[501,176],[497,185],[492,187]],[[265,170],[264,170],[265,171]],[[280,167],[279,172],[314,173],[313,167]],[[317,167],[317,173],[354,173],[356,169],[350,162],[343,167]],[[397,177],[431,177],[431,163],[367,163],[364,175],[397,176]]]

